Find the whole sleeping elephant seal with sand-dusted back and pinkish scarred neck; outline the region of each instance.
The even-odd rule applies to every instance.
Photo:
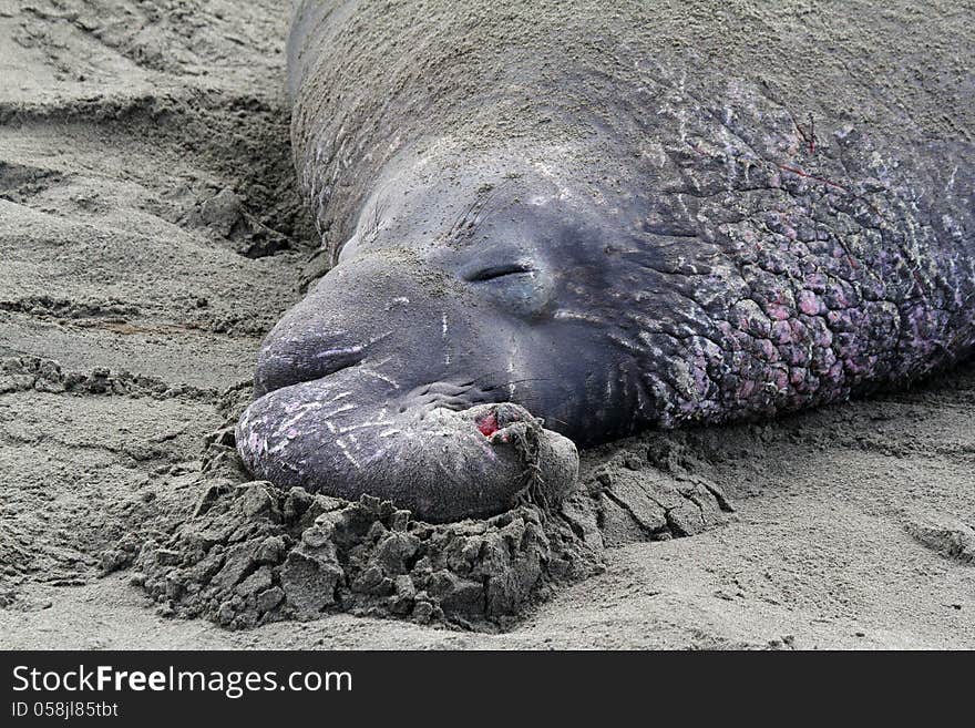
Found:
[[[566,438],[968,356],[975,18],[799,4],[299,3],[292,142],[333,267],[263,344],[247,466],[483,516],[525,473],[557,500]]]

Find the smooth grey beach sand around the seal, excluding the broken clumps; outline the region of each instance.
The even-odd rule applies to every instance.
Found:
[[[636,478],[707,481],[735,513],[608,539],[603,573],[503,630],[351,614],[232,630],[164,616],[131,568],[101,576],[120,539],[189,516],[222,394],[246,392],[300,296],[315,245],[284,4],[0,4],[0,647],[975,647],[973,363],[584,453],[584,471],[637,458]]]

